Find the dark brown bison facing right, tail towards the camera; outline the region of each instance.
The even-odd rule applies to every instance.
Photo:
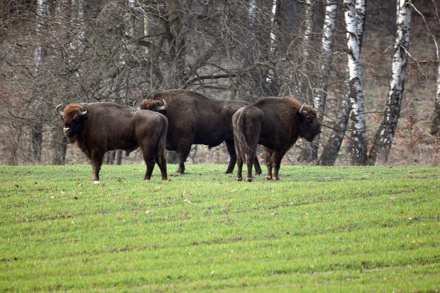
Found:
[[[267,180],[279,180],[281,159],[298,137],[312,141],[321,133],[316,111],[292,98],[266,97],[240,108],[233,116],[237,152],[237,180],[242,180],[243,159],[247,157],[247,180],[252,181],[252,160],[257,144],[264,146]],[[250,162],[250,163],[249,163]]]

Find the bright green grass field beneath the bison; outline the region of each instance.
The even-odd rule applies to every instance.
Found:
[[[0,167],[0,292],[440,290],[439,167]]]

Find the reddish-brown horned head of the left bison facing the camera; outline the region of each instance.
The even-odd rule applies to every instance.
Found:
[[[88,117],[88,108],[86,105],[69,104],[61,112],[58,110],[61,105],[63,104],[58,105],[55,110],[63,117],[64,135],[67,136],[68,142],[73,143],[81,129],[83,129],[84,121]]]

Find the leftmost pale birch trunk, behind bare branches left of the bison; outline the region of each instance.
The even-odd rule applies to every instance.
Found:
[[[43,24],[46,22],[47,18],[47,3],[46,0],[38,0],[37,1],[37,19],[36,19],[36,31],[37,37],[40,39],[39,43],[42,43],[43,36]],[[41,65],[44,58],[44,46],[38,45],[35,48],[34,53],[34,66],[35,66],[35,76],[39,79]],[[43,81],[40,81],[43,83]],[[41,161],[41,150],[42,150],[42,142],[43,142],[43,122],[42,122],[42,112],[43,110],[43,96],[40,89],[36,89],[35,98],[34,98],[34,106],[35,109],[35,117],[34,122],[32,123],[31,128],[31,157],[36,161]]]

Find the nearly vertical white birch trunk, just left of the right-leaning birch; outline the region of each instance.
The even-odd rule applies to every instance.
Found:
[[[344,0],[349,71],[350,103],[352,107],[352,164],[362,165],[367,155],[367,135],[364,116],[364,96],[360,66],[360,45],[354,0]]]

